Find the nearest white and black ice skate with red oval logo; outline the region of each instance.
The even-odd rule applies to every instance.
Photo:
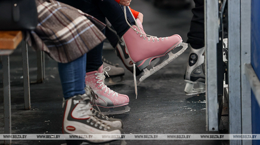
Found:
[[[92,112],[92,105],[90,104],[90,97],[87,94],[76,95],[62,104],[64,108],[64,116],[62,123],[63,134],[122,134],[122,128],[111,127],[97,118]],[[65,135],[66,137],[66,135]],[[106,140],[98,138],[93,135],[90,138],[84,138],[89,143],[106,143],[113,140]],[[80,141],[74,141],[74,144],[80,144]],[[67,140],[67,143],[73,144],[71,140]]]

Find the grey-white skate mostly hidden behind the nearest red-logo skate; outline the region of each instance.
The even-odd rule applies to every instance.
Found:
[[[93,115],[95,115],[97,118],[105,122],[106,124],[110,125],[111,127],[116,128],[123,128],[123,123],[120,119],[108,117],[101,113],[99,107],[96,104],[96,100],[98,99],[98,96],[94,93],[94,91],[87,85],[85,87],[85,92],[89,96],[91,102],[96,106],[97,109],[92,109]]]

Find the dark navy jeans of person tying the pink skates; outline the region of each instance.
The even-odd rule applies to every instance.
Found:
[[[98,20],[105,23],[105,18],[112,24],[120,38],[130,28],[126,23],[124,11],[120,4],[114,0],[58,0],[62,3],[71,5],[83,12],[94,16]],[[126,9],[129,24],[134,25],[134,19],[131,13]],[[103,30],[105,34],[105,30]],[[103,64],[102,62],[103,43],[87,53],[86,72],[98,70]]]

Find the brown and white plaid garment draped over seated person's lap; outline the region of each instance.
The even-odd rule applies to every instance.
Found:
[[[73,61],[105,39],[100,31],[105,24],[74,7],[54,0],[36,0],[36,5],[38,25],[29,44],[55,61]]]

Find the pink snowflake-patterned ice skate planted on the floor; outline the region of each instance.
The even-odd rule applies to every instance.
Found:
[[[104,73],[107,73],[109,70],[110,67],[103,69],[103,65],[101,65],[98,70],[86,73],[86,85],[90,86],[98,95],[98,99],[96,100],[97,105],[101,107],[101,109],[109,109],[108,112],[102,112],[104,115],[115,115],[128,112],[130,110],[127,106],[129,103],[128,96],[114,92],[104,84]],[[124,108],[123,110],[117,110],[122,107]]]

